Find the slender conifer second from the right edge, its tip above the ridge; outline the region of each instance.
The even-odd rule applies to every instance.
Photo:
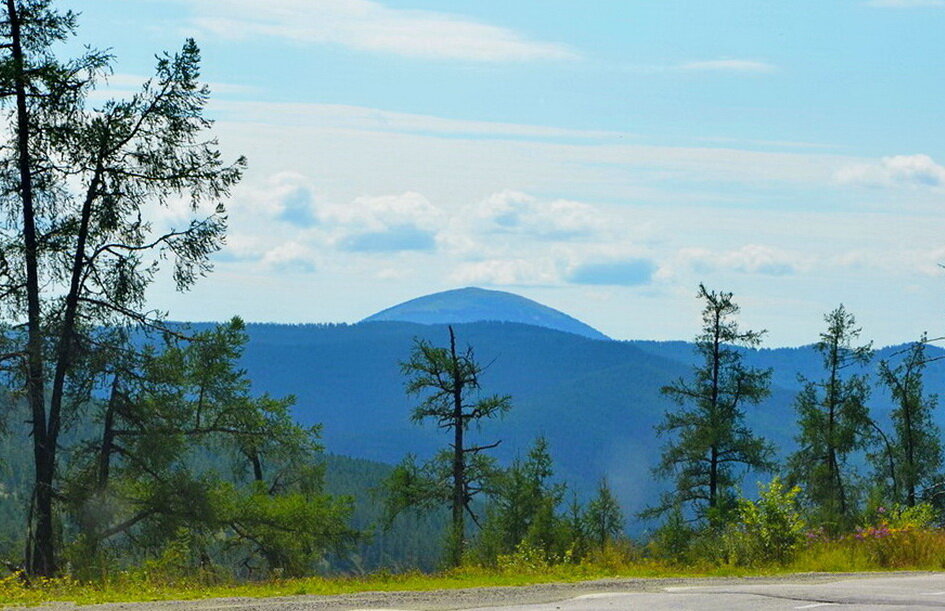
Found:
[[[872,421],[866,401],[867,376],[849,371],[872,358],[871,344],[856,346],[861,329],[841,305],[824,317],[827,329],[820,334],[825,377],[801,378],[804,387],[795,400],[800,449],[789,461],[792,477],[829,528],[849,524],[855,510],[852,474],[847,465],[851,453],[863,449],[871,438]]]

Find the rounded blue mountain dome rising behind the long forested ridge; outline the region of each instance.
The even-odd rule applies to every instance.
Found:
[[[520,295],[476,287],[417,297],[368,316],[361,322],[414,322],[423,325],[517,322],[590,339],[610,339],[597,329]]]

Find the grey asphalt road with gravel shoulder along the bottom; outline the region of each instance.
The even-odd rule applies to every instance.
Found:
[[[614,611],[620,609],[924,609],[945,608],[945,573],[808,574],[748,579],[609,579],[518,588],[364,592],[345,596],[211,599],[46,611]]]

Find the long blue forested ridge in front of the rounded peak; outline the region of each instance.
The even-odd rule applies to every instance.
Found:
[[[660,387],[691,372],[688,342],[598,341],[516,323],[454,325],[462,345],[490,363],[484,383],[509,394],[513,407],[473,436],[502,440],[496,455],[521,455],[538,435],[548,438],[556,472],[582,494],[606,476],[628,513],[661,489],[650,468],[663,440],[654,426],[673,404]],[[410,422],[414,402],[404,394],[399,363],[415,337],[442,344],[445,325],[364,322],[354,325],[250,324],[242,364],[257,392],[292,393],[304,424],[322,423],[327,449],[336,454],[394,463],[405,452],[432,454],[441,435]],[[878,351],[874,363],[900,350]],[[938,349],[932,349],[941,353]],[[816,377],[820,357],[811,346],[749,351],[747,362],[774,370],[772,395],[748,410],[748,421],[771,439],[781,456],[793,450],[797,374]],[[931,363],[930,382],[942,378]],[[882,419],[891,403],[875,389],[871,405]],[[939,418],[940,422],[945,421]],[[766,479],[750,474],[749,485]]]

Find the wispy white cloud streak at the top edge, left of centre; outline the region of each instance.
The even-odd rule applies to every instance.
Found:
[[[574,59],[568,47],[507,28],[371,0],[190,0],[194,25],[228,38],[278,37],[406,57],[480,62]]]

